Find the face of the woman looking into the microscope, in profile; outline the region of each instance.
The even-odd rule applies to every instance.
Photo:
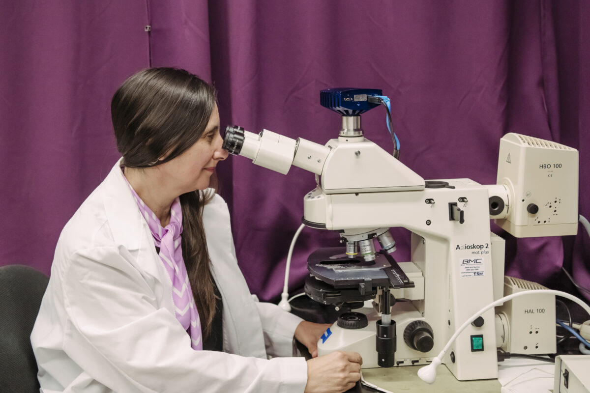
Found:
[[[217,163],[228,156],[227,150],[221,148],[222,143],[219,111],[215,105],[201,138],[180,156],[158,167],[166,172],[168,179],[173,180],[173,186],[178,186],[179,195],[204,190],[209,186],[209,179],[215,173]]]

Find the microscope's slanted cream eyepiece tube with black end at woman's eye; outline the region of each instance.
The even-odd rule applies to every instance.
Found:
[[[287,174],[291,165],[322,174],[330,148],[303,138],[289,138],[273,131],[254,134],[239,126],[227,126],[223,146],[230,154],[250,158],[254,164]]]

